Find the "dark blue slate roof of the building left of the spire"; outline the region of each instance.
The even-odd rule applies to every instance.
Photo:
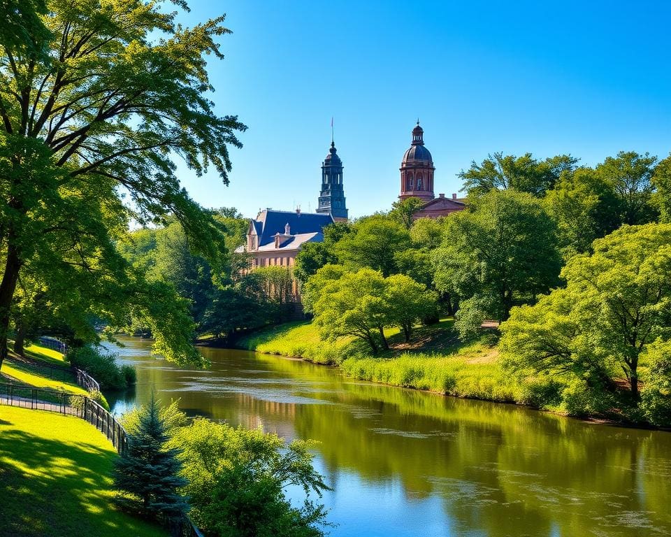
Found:
[[[252,219],[250,223],[259,236],[259,249],[261,249],[270,243],[274,247],[275,235],[284,234],[284,227],[287,224],[289,224],[291,235],[322,234],[325,226],[333,224],[333,217],[330,214],[266,209],[262,210],[256,220]],[[287,244],[294,241],[289,241]]]

